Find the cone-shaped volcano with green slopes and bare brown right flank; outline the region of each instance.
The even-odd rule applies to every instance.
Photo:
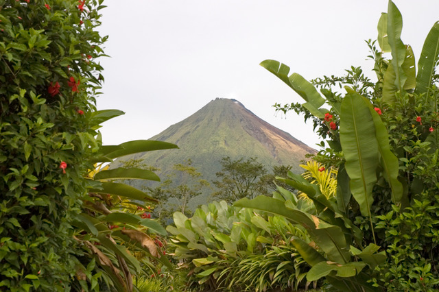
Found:
[[[259,119],[235,99],[217,98],[151,139],[175,143],[180,149],[136,154],[123,160],[141,159],[158,167],[162,169],[157,172],[161,178],[172,165],[190,158],[206,180],[215,180],[215,173],[221,170],[219,160],[224,156],[257,157],[269,172],[274,165],[292,165],[298,173],[298,164],[305,154],[316,153],[287,132]]]

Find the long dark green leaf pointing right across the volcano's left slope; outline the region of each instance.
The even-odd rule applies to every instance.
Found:
[[[122,143],[119,145],[122,149],[112,151],[106,154],[106,157],[114,159],[121,156],[140,153],[145,151],[163,150],[163,149],[175,149],[178,148],[177,145],[163,142],[163,141],[152,141],[152,140],[135,140]]]

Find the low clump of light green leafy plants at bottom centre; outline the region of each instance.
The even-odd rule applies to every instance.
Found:
[[[309,239],[303,228],[280,216],[213,202],[187,218],[174,213],[170,245],[179,269],[187,271],[187,288],[204,291],[298,289],[307,265],[291,244],[293,236]]]

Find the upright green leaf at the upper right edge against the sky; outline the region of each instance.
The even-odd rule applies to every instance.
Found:
[[[433,80],[434,68],[439,59],[439,21],[431,27],[420,53],[416,92],[427,93]]]

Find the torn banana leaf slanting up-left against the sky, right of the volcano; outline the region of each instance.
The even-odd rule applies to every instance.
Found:
[[[320,93],[314,88],[314,86],[305,80],[304,77],[298,73],[292,73],[288,76],[289,66],[281,64],[274,60],[265,60],[260,64],[265,69],[276,75],[279,79],[285,82],[289,87],[291,87],[300,97],[305,99],[305,104],[302,104],[311,114],[318,117],[319,119],[324,118],[324,114],[327,110],[320,109],[324,104],[324,99]]]

